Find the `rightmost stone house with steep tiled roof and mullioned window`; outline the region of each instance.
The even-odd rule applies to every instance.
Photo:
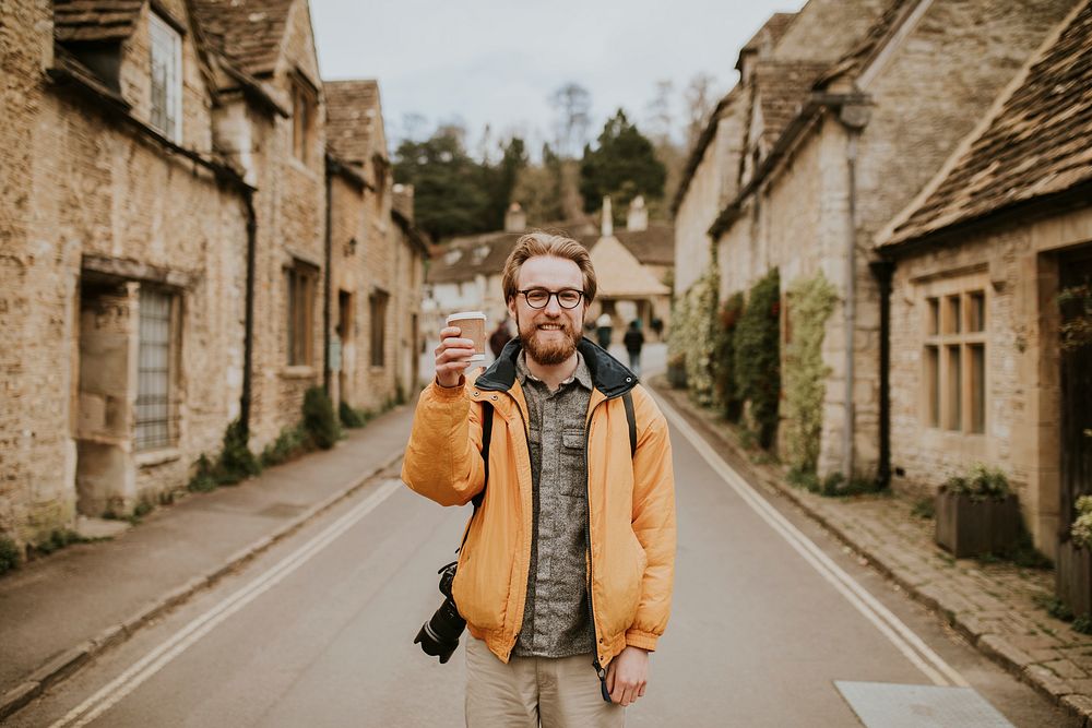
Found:
[[[898,479],[999,467],[1052,557],[1092,492],[1090,57],[1085,0],[878,237]]]

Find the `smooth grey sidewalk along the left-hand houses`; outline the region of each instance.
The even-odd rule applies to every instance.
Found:
[[[413,408],[329,452],[194,494],[111,541],[71,546],[0,578],[0,720],[393,465]]]

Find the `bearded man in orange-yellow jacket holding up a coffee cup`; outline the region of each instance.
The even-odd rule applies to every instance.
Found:
[[[620,726],[670,611],[667,423],[629,370],[582,337],[596,288],[583,246],[525,235],[502,285],[517,338],[471,382],[472,342],[440,332],[402,469],[443,505],[484,489],[452,586],[471,633],[466,724]]]

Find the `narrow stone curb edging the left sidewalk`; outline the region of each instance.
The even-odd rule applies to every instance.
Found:
[[[0,721],[8,718],[27,703],[40,695],[47,688],[56,685],[64,680],[80,667],[97,657],[106,649],[116,647],[141,630],[153,619],[164,614],[175,607],[186,602],[195,593],[214,585],[224,576],[238,570],[240,566],[251,561],[262,552],[269,550],[275,544],[284,540],[296,533],[308,523],[329,511],[334,505],[353,496],[356,491],[367,486],[383,470],[390,468],[402,457],[402,453],[395,453],[377,467],[353,480],[348,486],[330,494],[322,501],[316,503],[294,520],[286,523],[274,533],[263,536],[247,547],[239,549],[221,565],[207,572],[203,576],[195,576],[181,586],[170,589],[155,601],[142,607],[134,614],[117,624],[111,624],[91,640],[68,649],[49,661],[45,663],[31,672],[21,683],[0,696]]]

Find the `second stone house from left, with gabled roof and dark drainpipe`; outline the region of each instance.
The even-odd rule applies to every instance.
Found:
[[[256,189],[250,366],[244,415],[261,450],[323,383],[325,104],[307,0],[194,0],[224,80],[214,144]],[[263,108],[257,87],[274,100]]]

